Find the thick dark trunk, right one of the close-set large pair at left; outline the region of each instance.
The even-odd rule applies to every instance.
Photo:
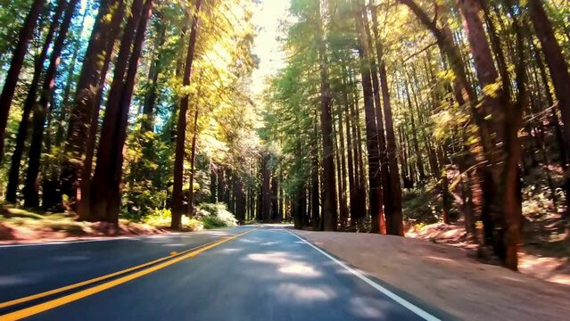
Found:
[[[135,0],[131,7],[132,16],[125,27],[103,118],[95,174],[89,191],[88,219],[91,221],[115,224],[119,221],[122,151],[127,139],[128,110],[135,89],[138,60],[145,42],[146,25],[152,11],[153,0],[146,0],[145,4],[142,0]],[[129,25],[131,21],[134,28]]]

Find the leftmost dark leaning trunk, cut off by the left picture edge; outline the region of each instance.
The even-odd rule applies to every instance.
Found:
[[[18,43],[16,43],[12,53],[10,69],[6,73],[4,87],[2,88],[2,94],[0,94],[0,161],[2,161],[4,156],[4,135],[6,125],[8,124],[8,114],[12,106],[12,98],[18,84],[18,78],[20,78],[21,66],[28,51],[29,40],[34,34],[34,29],[36,29],[37,18],[44,9],[44,5],[45,0],[34,0],[32,3],[24,25],[21,27]]]

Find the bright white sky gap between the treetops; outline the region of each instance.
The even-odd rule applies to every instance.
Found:
[[[252,93],[263,91],[264,80],[284,66],[284,53],[279,50],[279,21],[289,9],[289,0],[258,0],[252,21],[257,29],[253,53],[260,58],[260,68],[252,74]]]

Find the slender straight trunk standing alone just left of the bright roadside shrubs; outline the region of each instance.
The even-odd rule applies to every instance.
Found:
[[[196,0],[194,15],[192,19],[192,28],[190,29],[190,39],[188,41],[188,50],[186,53],[186,65],[184,69],[184,77],[182,85],[189,86],[192,76],[192,63],[194,62],[194,48],[198,36],[200,7],[202,0]],[[178,126],[176,137],[176,155],[174,160],[174,184],[172,185],[172,222],[171,227],[180,229],[182,223],[182,215],[186,213],[186,209],[182,202],[182,185],[184,180],[184,158],[186,145],[186,113],[188,111],[188,95],[183,95],[180,99],[180,109],[178,111]]]

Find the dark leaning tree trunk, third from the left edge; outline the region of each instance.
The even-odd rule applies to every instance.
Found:
[[[73,18],[77,4],[78,0],[71,0],[65,10],[62,27],[54,42],[49,66],[47,70],[45,70],[44,84],[42,86],[39,103],[37,103],[37,108],[34,110],[34,116],[32,118],[33,133],[31,143],[29,144],[29,161],[24,186],[24,205],[26,207],[37,207],[39,205],[39,184],[37,182],[37,176],[39,174],[42,143],[44,142],[45,118],[49,112],[50,102],[52,101],[52,95],[54,93],[55,76],[57,74],[57,67],[60,64],[63,43],[67,37],[67,31],[70,28],[71,18]]]

